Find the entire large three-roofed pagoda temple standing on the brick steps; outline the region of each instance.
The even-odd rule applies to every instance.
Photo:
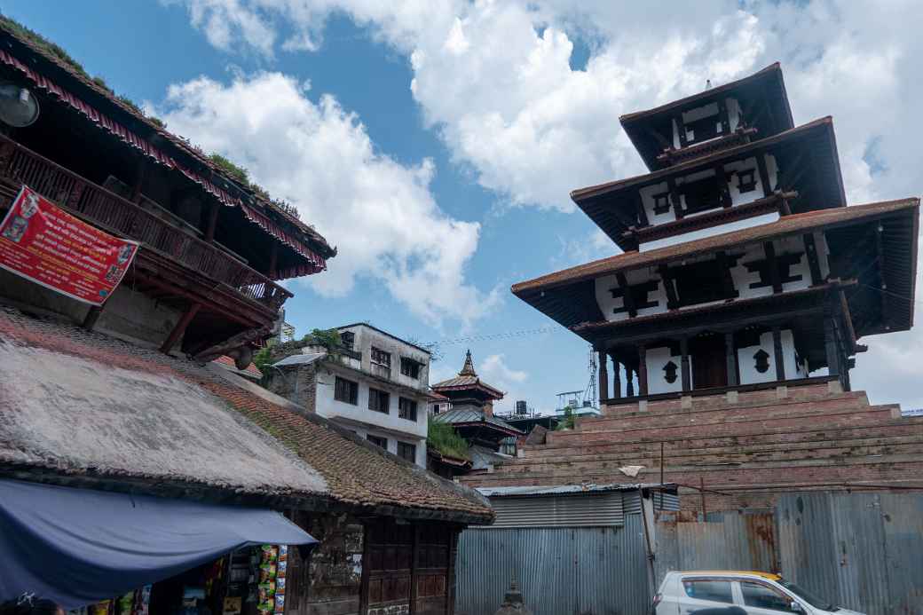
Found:
[[[859,340],[911,327],[919,199],[847,207],[833,119],[795,126],[778,64],[620,120],[650,173],[571,198],[622,253],[512,287],[593,344],[601,405],[848,392]]]

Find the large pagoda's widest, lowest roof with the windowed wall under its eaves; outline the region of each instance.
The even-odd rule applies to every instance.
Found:
[[[753,297],[791,295],[851,280],[855,283],[846,298],[857,336],[904,331],[913,324],[918,218],[917,198],[807,211],[730,233],[594,260],[513,284],[511,290],[590,340],[596,337],[590,324],[598,329],[617,320],[675,318],[693,308],[742,304]],[[761,278],[771,277],[767,262],[775,264],[775,279],[761,283]],[[727,272],[726,295],[683,296],[702,288],[720,294],[722,270]],[[709,275],[715,280],[702,278]],[[666,286],[670,290],[665,291]],[[637,305],[627,306],[627,295]],[[660,295],[664,305],[658,306]]]

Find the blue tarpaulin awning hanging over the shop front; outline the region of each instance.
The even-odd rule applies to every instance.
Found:
[[[317,542],[265,509],[0,480],[0,602],[76,609],[234,549]]]

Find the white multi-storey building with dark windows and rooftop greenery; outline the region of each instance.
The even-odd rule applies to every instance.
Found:
[[[429,351],[357,323],[342,346],[307,344],[266,369],[268,388],[426,467]]]

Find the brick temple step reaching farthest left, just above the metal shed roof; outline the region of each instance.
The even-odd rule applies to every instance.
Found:
[[[882,457],[843,459],[831,464],[828,460],[806,460],[797,463],[695,465],[666,467],[665,482],[698,486],[700,478],[707,485],[752,485],[805,482],[855,482],[877,480],[914,480],[923,484],[923,458],[916,455],[885,455]],[[466,476],[462,482],[471,487],[579,485],[586,483],[657,482],[659,468],[645,468],[637,477],[625,476],[617,468],[597,468],[581,472],[492,473]]]

